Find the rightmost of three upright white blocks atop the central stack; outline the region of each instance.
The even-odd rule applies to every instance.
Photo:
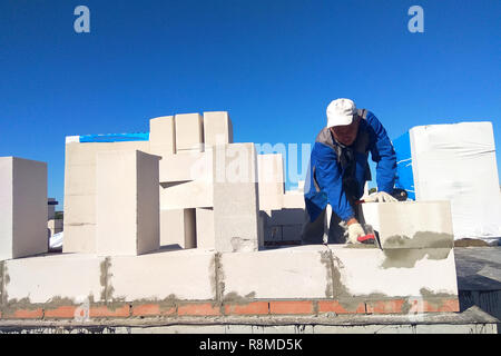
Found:
[[[206,146],[233,144],[233,125],[227,111],[204,112]]]

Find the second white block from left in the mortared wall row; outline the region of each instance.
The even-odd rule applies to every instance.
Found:
[[[126,301],[215,298],[214,253],[199,249],[111,257],[114,298]],[[138,288],[138,286],[140,286]]]

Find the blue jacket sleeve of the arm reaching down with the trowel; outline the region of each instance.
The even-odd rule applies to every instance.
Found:
[[[343,220],[350,220],[355,214],[343,190],[343,179],[335,151],[324,144],[315,142],[313,157],[315,158],[313,174],[318,188],[326,192],[327,202],[333,211]]]

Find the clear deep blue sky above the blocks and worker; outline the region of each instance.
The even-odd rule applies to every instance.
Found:
[[[73,31],[79,4],[90,33]],[[413,4],[424,33],[407,31]],[[0,156],[47,161],[62,202],[66,136],[228,110],[236,141],[312,142],[347,97],[391,138],[490,120],[499,169],[500,14],[499,0],[2,0]]]

